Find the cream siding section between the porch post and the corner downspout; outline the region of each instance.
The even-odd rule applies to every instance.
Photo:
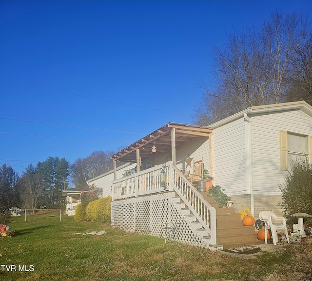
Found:
[[[246,148],[243,118],[213,131],[214,184],[231,195],[246,193]]]

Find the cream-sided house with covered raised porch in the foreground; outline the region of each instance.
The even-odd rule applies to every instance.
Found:
[[[195,161],[203,160],[236,213],[248,206],[257,219],[263,210],[281,211],[284,173],[292,159],[303,157],[312,161],[312,106],[305,101],[253,106],[207,127],[167,123],[111,157],[115,167],[116,161],[137,165],[135,173],[123,178],[115,168],[88,184],[97,182],[112,195],[113,226],[155,236],[162,235],[160,221],[177,220],[170,214],[187,220],[174,211],[172,198],[179,198],[206,231],[200,236],[189,230],[192,238],[185,240],[207,246],[218,240],[215,208],[190,180]]]

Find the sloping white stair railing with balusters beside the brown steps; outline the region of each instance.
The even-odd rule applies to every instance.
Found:
[[[173,171],[170,177],[170,188],[172,188],[195,218],[201,223],[210,236],[210,244],[216,244],[216,213],[211,206],[190,181],[181,173],[173,162],[167,163]]]

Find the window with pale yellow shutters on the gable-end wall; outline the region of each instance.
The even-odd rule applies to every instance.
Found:
[[[281,170],[288,170],[292,160],[306,158],[309,154],[310,162],[312,161],[312,137],[280,131],[279,144]]]

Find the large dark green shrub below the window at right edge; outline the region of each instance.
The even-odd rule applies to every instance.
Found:
[[[297,159],[291,162],[292,171],[284,175],[285,182],[280,184],[283,201],[280,206],[285,209],[286,218],[297,223],[294,213],[312,215],[312,164],[307,159]],[[306,218],[306,225],[312,225],[312,220]]]

